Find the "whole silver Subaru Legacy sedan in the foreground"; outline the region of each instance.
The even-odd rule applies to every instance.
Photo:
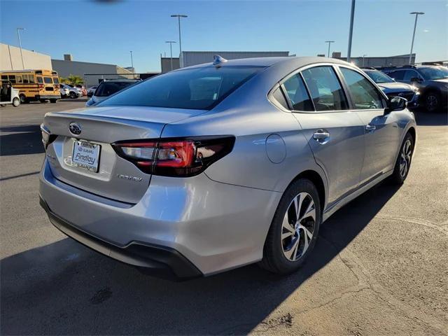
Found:
[[[47,113],[41,130],[50,221],[181,278],[294,272],[337,209],[405,181],[416,144],[405,99],[323,57],[216,57]]]

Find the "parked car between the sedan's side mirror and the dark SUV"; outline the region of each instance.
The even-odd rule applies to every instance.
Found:
[[[377,83],[387,97],[403,97],[407,100],[407,107],[416,108],[419,106],[419,89],[410,84],[395,82],[391,77],[387,76],[377,69],[363,69],[363,71]]]

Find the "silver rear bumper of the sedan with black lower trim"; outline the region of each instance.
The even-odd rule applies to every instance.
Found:
[[[176,265],[189,262],[193,268],[181,267],[186,272],[167,263],[163,267],[189,277],[261,260],[281,193],[219,183],[205,174],[185,179],[152,176],[144,197],[127,204],[62,183],[45,160],[40,196],[50,221],[66,235],[112,258],[148,268],[160,268],[156,264],[164,262],[136,259],[129,255],[130,247],[171,251],[186,260]]]

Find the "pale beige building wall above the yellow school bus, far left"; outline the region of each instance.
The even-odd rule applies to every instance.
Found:
[[[52,70],[51,57],[31,50],[22,49],[25,69]],[[0,43],[0,70],[22,70],[20,48]]]

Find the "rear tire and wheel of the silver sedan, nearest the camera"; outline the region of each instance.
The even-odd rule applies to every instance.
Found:
[[[320,223],[316,186],[308,179],[293,182],[272,219],[260,266],[278,274],[297,271],[316,244]]]

